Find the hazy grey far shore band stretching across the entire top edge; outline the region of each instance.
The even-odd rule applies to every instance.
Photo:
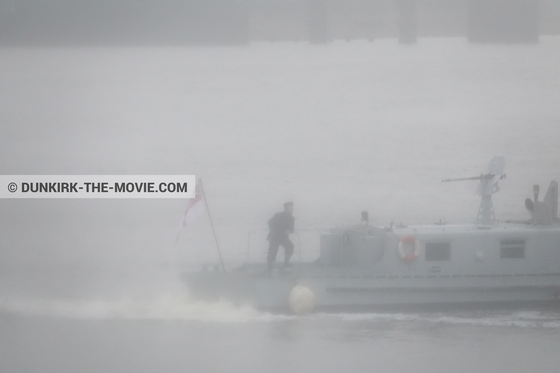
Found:
[[[0,46],[245,45],[560,34],[560,0],[0,0]]]

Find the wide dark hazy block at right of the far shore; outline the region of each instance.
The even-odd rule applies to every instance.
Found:
[[[474,43],[538,43],[538,0],[469,0],[468,38]]]

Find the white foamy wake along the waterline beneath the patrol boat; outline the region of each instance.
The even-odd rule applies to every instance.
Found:
[[[490,327],[559,328],[556,311],[514,311],[500,313],[314,313],[305,316],[272,314],[251,305],[237,306],[226,300],[195,301],[183,291],[164,292],[148,298],[125,296],[119,299],[0,298],[0,311],[29,317],[97,320],[183,320],[199,322],[282,322],[309,319],[332,322],[428,323]]]

